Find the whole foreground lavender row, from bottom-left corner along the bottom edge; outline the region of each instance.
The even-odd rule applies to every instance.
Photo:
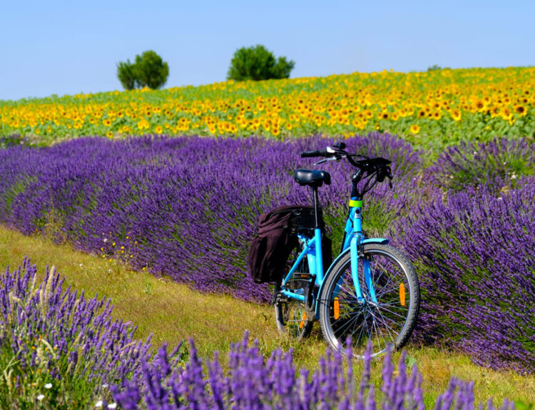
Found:
[[[43,282],[36,278],[29,260],[1,277],[2,408],[424,409],[422,375],[415,366],[407,374],[404,354],[396,372],[391,357],[384,359],[380,402],[370,382],[370,349],[359,381],[350,349],[327,351],[310,374],[295,368],[292,352],[277,349],[265,360],[245,334],[223,371],[217,354],[203,366],[193,341],[188,354],[180,345],[151,354],[150,342],[133,339],[131,326],[111,319],[104,299],[63,289],[54,270]],[[474,409],[473,385],[452,379],[435,408]],[[514,403],[505,400],[500,409]]]

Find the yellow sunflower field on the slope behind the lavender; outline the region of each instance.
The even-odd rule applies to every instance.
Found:
[[[400,135],[416,145],[533,138],[535,67],[352,73],[0,101],[0,136]]]

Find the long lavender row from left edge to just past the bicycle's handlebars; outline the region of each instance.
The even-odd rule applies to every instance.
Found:
[[[347,141],[349,148],[394,161],[399,186],[413,184],[418,153],[390,135]],[[248,276],[247,254],[260,213],[277,205],[310,203],[292,178],[311,167],[303,150],[332,144],[308,138],[277,143],[261,138],[83,138],[51,148],[0,151],[0,221],[28,234],[39,230],[82,250],[122,257],[209,292],[270,299]],[[322,188],[329,222],[340,230],[350,192],[347,164],[330,165]],[[368,220],[378,231],[407,203],[379,185]],[[380,212],[379,212],[380,211]],[[366,216],[366,215],[365,215]],[[336,235],[341,237],[341,235]]]

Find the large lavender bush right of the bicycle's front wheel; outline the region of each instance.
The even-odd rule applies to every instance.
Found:
[[[535,178],[497,197],[450,193],[399,220],[419,272],[419,337],[475,362],[535,371]]]

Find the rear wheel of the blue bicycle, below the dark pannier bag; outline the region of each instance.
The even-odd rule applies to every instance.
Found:
[[[285,275],[290,272],[290,268],[293,266],[297,256],[302,252],[302,243],[295,246],[290,257],[286,262]],[[292,278],[297,275],[310,275],[308,268],[307,258],[304,257],[300,264],[297,266]],[[292,285],[292,281],[295,282],[294,292],[302,292],[306,294],[306,282],[305,280],[292,279],[288,281],[288,285]],[[309,315],[310,316],[310,315]],[[292,339],[301,340],[307,337],[312,330],[315,317],[307,317],[305,303],[297,299],[290,299],[283,296],[280,292],[275,294],[275,324],[281,334],[285,334]]]

